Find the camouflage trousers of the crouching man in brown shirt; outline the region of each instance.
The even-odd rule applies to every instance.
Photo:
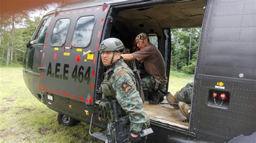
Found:
[[[142,78],[142,80],[140,80],[140,85],[142,85],[145,99],[150,99],[152,95],[156,93],[156,80],[154,80],[152,76]],[[165,84],[159,84],[157,90],[165,91]]]

